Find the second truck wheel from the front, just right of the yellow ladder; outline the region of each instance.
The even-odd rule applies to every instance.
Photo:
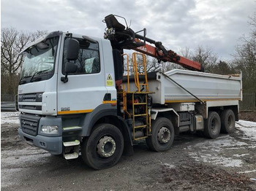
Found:
[[[174,128],[172,122],[165,117],[159,117],[152,122],[152,135],[146,138],[149,149],[163,152],[173,145]]]

